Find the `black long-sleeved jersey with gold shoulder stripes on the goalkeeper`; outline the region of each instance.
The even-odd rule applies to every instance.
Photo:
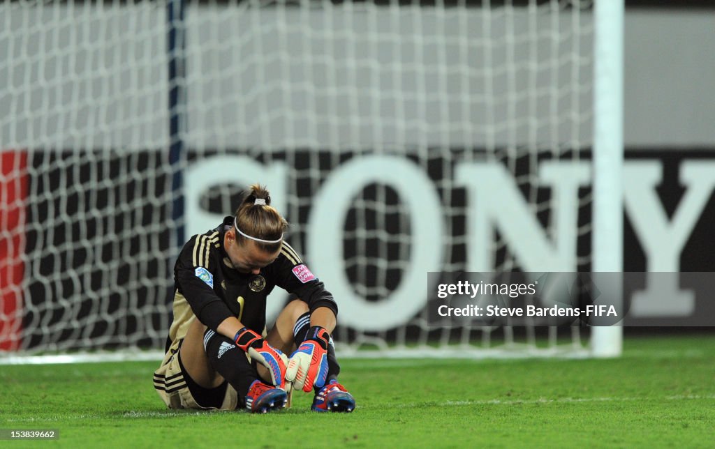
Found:
[[[283,242],[280,254],[259,274],[233,268],[224,249],[224,235],[233,217],[212,231],[193,236],[182,248],[174,266],[174,321],[167,347],[186,336],[194,316],[216,331],[230,316],[262,333],[266,322],[266,298],[276,286],[305,301],[310,311],[337,305],[323,283],[312,275],[295,250]]]

